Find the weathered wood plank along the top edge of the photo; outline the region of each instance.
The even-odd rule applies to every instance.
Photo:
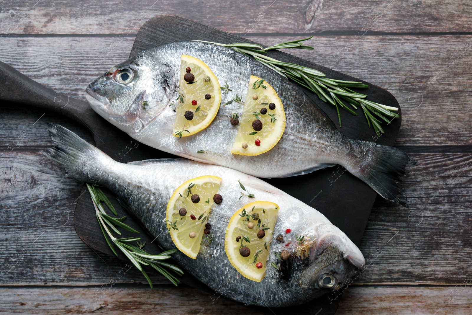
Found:
[[[0,32],[14,34],[135,34],[147,19],[172,14],[236,33],[470,32],[466,0],[357,2],[260,0],[146,0],[93,2],[7,0],[2,2]],[[353,32],[354,34],[356,32]],[[8,37],[6,37],[8,38]]]

